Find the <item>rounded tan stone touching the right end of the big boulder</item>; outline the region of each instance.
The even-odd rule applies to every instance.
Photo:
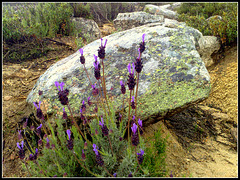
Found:
[[[211,55],[220,49],[220,42],[215,36],[202,36],[199,41],[198,53],[201,56],[206,67],[214,64]]]

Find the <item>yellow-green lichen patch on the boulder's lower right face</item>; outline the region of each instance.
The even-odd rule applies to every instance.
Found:
[[[164,81],[152,83],[149,90],[139,97],[140,116],[145,119],[151,114],[164,115],[171,109],[208,97],[210,84]]]

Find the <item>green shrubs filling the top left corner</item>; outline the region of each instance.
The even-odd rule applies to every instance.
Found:
[[[15,10],[17,8],[17,10]],[[37,3],[5,5],[3,8],[3,39],[18,41],[22,36],[38,38],[69,35],[73,26],[73,9],[68,3]]]

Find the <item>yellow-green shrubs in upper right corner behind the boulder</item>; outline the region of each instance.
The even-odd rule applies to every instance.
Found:
[[[179,21],[203,35],[218,36],[226,45],[237,40],[237,3],[182,3],[177,12]]]

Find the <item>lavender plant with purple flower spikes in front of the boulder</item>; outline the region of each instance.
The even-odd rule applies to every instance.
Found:
[[[37,149],[33,153],[31,143],[29,146],[29,157],[24,168],[29,169],[29,176],[42,177],[76,177],[76,176],[96,176],[96,177],[136,177],[151,176],[148,165],[143,166],[146,145],[142,138],[143,123],[137,116],[137,88],[139,73],[142,70],[141,55],[145,50],[145,34],[142,36],[142,43],[138,49],[139,56],[136,62],[127,66],[129,76],[127,85],[129,88],[129,111],[128,115],[117,114],[111,101],[109,101],[105,77],[104,59],[107,40],[104,45],[101,39],[101,46],[98,49],[98,56],[94,55],[94,75],[96,83],[92,83],[85,68],[84,51],[80,49],[79,62],[83,64],[89,83],[92,86],[92,96],[87,98],[87,103],[82,101],[80,105],[80,121],[77,122],[76,116],[70,107],[68,94],[69,90],[64,89],[64,82],[55,82],[58,90],[58,99],[62,104],[62,115],[56,115],[54,120],[57,124],[54,128],[41,110],[43,102],[34,102],[37,108],[37,117],[41,124],[33,130],[38,137]],[[98,62],[97,58],[100,58]],[[132,67],[132,68],[131,68]],[[102,70],[102,71],[101,71]],[[137,81],[134,72],[137,72]],[[126,93],[123,81],[120,81],[122,95]],[[101,92],[103,91],[103,93]],[[132,96],[132,93],[135,94]],[[41,95],[42,93],[39,93]],[[102,96],[104,94],[104,96]],[[37,105],[38,104],[38,105]],[[40,104],[42,104],[40,106]],[[124,98],[123,98],[124,107]],[[67,114],[68,108],[70,114]],[[90,111],[94,109],[94,111]],[[90,112],[95,113],[91,118],[87,116]],[[138,119],[138,120],[137,120]],[[70,127],[66,120],[71,122]],[[43,125],[45,123],[45,125]],[[41,131],[45,127],[45,131]],[[21,131],[19,131],[19,134]],[[124,138],[127,135],[127,138]],[[19,157],[24,160],[24,143],[19,148]],[[24,161],[25,162],[25,161]]]

